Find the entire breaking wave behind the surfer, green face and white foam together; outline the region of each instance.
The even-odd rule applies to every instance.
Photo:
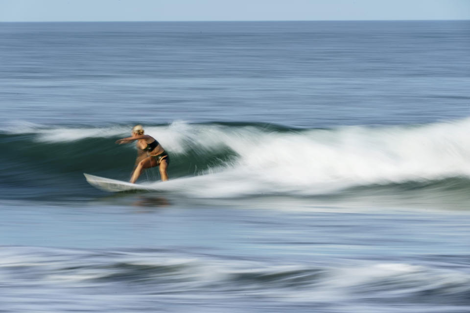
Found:
[[[292,129],[263,123],[146,125],[170,156],[160,192],[197,198],[467,199],[468,120],[414,126]],[[24,127],[0,133],[3,199],[102,194],[83,173],[128,181],[137,149],[117,145],[131,125]],[[147,170],[139,183],[160,179]],[[183,187],[184,186],[184,187]],[[163,190],[161,190],[163,188]]]

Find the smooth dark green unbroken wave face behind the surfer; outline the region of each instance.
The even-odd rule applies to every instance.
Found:
[[[72,134],[80,131],[82,129],[68,130]],[[97,133],[93,137],[83,135],[76,139],[54,138],[54,133],[60,137],[60,132],[49,129],[46,134],[0,134],[0,161],[5,167],[0,174],[1,197],[74,194],[77,188],[88,189],[83,181],[84,172],[129,180],[138,155],[137,148],[134,144],[115,144],[117,139],[128,134],[100,136]],[[228,146],[212,147],[209,151],[188,140],[184,146],[182,152],[167,150],[171,158],[168,174],[172,178],[200,175],[236,157]],[[141,180],[159,179],[157,169],[147,172]]]

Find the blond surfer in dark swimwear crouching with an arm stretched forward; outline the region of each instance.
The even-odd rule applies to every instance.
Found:
[[[131,137],[119,139],[116,143],[120,145],[134,140],[137,140],[136,146],[139,149],[139,156],[137,156],[136,165],[130,181],[135,183],[144,169],[155,166],[159,167],[162,180],[168,180],[166,169],[170,162],[170,157],[154,137],[143,134],[142,125],[134,126]]]

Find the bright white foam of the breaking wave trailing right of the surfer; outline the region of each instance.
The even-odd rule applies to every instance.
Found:
[[[238,158],[165,188],[190,196],[319,194],[354,185],[470,177],[470,120],[416,127],[343,127],[267,133],[252,127],[188,126],[180,140],[229,146]],[[184,145],[180,142],[181,151]],[[159,188],[164,188],[163,184]]]

